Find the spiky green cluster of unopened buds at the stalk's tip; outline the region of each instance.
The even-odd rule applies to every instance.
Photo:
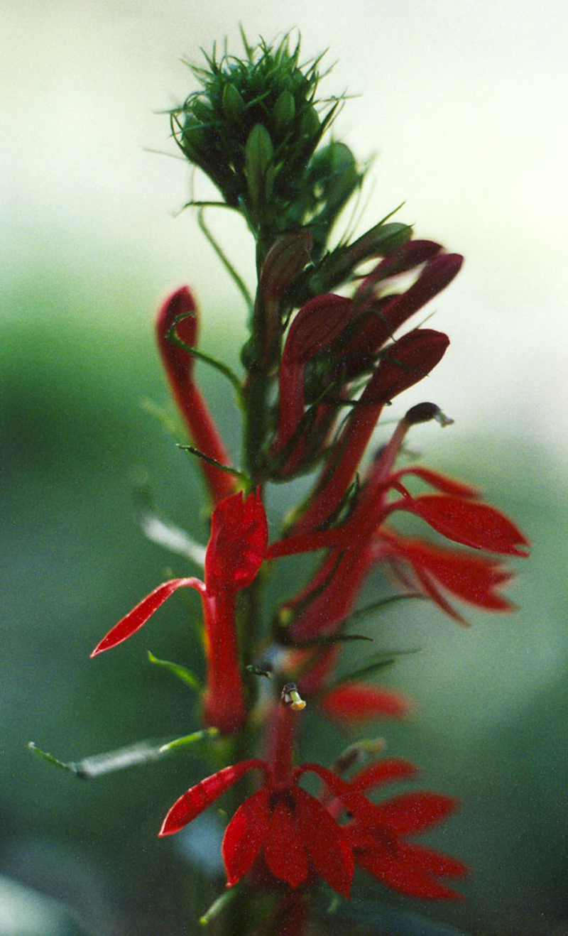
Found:
[[[207,67],[192,66],[202,89],[172,110],[174,137],[255,233],[273,240],[308,225],[317,255],[363,175],[343,143],[316,152],[341,99],[316,97],[320,60],[300,65],[288,36],[243,41],[243,58],[217,61],[213,49]]]

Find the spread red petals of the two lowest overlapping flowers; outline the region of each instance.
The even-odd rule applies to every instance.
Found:
[[[415,897],[458,898],[430,877],[462,876],[461,862],[430,849],[401,841],[444,818],[454,809],[449,797],[414,793],[375,805],[362,790],[414,775],[407,761],[386,759],[361,771],[352,782],[319,764],[301,764],[279,772],[265,760],[241,761],[192,786],[171,807],[161,836],[178,832],[211,806],[247,771],[264,773],[261,788],[247,797],[226,827],[223,858],[227,886],[232,886],[264,856],[270,873],[291,887],[311,883],[313,873],[343,897],[349,897],[354,861],[402,893]],[[304,773],[314,773],[327,788],[325,802],[299,786]],[[353,818],[340,825],[345,810]]]

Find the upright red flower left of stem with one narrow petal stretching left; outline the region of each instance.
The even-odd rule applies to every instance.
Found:
[[[215,725],[223,734],[238,730],[246,718],[246,707],[237,648],[236,594],[255,578],[267,542],[267,519],[259,492],[249,494],[246,500],[242,492],[227,497],[211,517],[205,581],[173,578],[158,585],[103,637],[91,656],[115,647],[138,631],[177,589],[196,589],[205,625],[205,723]]]

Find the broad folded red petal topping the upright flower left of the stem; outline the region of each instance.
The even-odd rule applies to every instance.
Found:
[[[221,501],[211,517],[211,537],[205,556],[205,581],[210,592],[237,591],[250,585],[263,562],[269,530],[260,491],[243,499],[242,491]]]

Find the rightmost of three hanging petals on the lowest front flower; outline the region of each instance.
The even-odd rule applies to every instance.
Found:
[[[353,856],[340,826],[322,804],[297,787],[296,825],[313,867],[328,885],[349,897],[353,878]]]

